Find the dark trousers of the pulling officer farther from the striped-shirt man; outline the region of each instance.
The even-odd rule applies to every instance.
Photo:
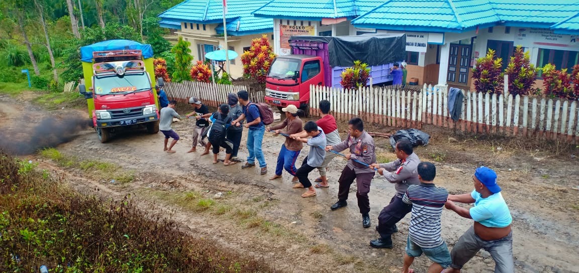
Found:
[[[338,180],[338,200],[346,201],[348,199],[348,194],[350,192],[350,185],[356,179],[356,185],[358,190],[356,191],[356,197],[358,198],[358,208],[360,208],[360,213],[367,214],[370,212],[370,199],[368,198],[368,193],[370,192],[370,183],[374,178],[373,172],[363,172],[361,174],[356,174],[356,171],[350,169],[350,167],[344,167],[342,175]]]

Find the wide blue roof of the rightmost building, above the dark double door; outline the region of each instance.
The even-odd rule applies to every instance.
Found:
[[[476,27],[511,25],[551,27],[566,34],[577,34],[579,1],[571,1],[390,0],[354,19],[352,24],[356,27],[427,32],[463,32]]]

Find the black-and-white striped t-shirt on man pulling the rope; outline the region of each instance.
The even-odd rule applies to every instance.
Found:
[[[411,185],[402,201],[412,204],[412,216],[408,235],[421,248],[442,245],[440,218],[442,207],[448,198],[448,190],[431,183]]]

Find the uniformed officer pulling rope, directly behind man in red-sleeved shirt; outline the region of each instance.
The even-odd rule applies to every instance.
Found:
[[[356,179],[358,190],[356,197],[358,198],[358,207],[362,213],[362,226],[364,228],[370,227],[370,200],[368,193],[370,191],[370,182],[374,177],[373,169],[368,168],[369,164],[376,162],[376,153],[374,150],[374,139],[367,132],[364,131],[364,122],[359,117],[354,117],[348,122],[349,134],[345,141],[326,146],[326,150],[342,151],[350,148],[350,154],[346,154],[348,164],[344,167],[342,175],[340,175],[338,202],[330,208],[332,211],[347,206],[348,193],[350,185]],[[368,165],[362,165],[353,160],[361,161]]]

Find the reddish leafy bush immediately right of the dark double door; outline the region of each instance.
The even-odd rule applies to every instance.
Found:
[[[478,58],[477,65],[472,68],[472,79],[477,92],[503,93],[503,59],[496,58],[494,50],[489,49],[485,57]]]

